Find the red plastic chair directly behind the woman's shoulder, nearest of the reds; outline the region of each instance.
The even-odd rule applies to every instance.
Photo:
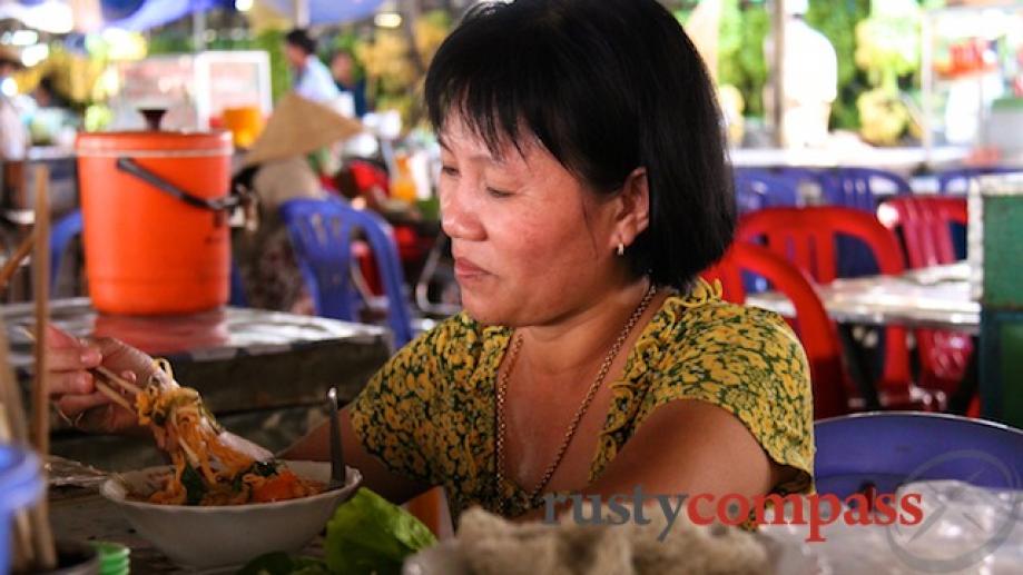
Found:
[[[849,413],[849,397],[858,393],[843,364],[842,343],[835,325],[809,280],[784,258],[742,241],[734,244],[717,265],[704,272],[704,277],[719,279],[725,299],[741,304],[746,300],[742,271],[765,277],[796,308],[795,319],[787,320],[806,349],[814,386],[814,417],[819,419]]]

